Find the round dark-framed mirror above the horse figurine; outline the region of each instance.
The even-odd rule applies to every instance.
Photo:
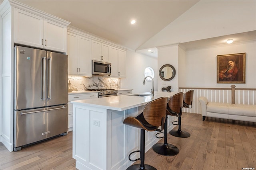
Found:
[[[163,65],[159,70],[159,76],[164,81],[172,80],[175,74],[176,74],[176,70],[174,66],[170,64]]]

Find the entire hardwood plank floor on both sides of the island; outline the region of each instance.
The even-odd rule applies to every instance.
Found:
[[[211,117],[202,121],[200,114],[182,113],[182,129],[191,136],[178,138],[168,134],[168,143],[178,147],[179,154],[162,156],[150,149],[145,163],[157,170],[256,169],[256,123]],[[9,152],[1,143],[0,169],[75,170],[72,132],[18,152]]]

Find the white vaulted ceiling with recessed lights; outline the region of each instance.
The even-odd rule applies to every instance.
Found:
[[[155,57],[156,47],[173,43],[193,49],[224,44],[229,37],[256,40],[255,0],[18,1],[70,21],[73,27]],[[136,23],[132,25],[131,20]],[[148,53],[149,48],[155,53]]]

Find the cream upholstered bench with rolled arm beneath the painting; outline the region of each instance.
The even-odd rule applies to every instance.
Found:
[[[256,105],[208,102],[205,97],[200,97],[198,100],[201,105],[203,121],[208,116],[256,122]]]

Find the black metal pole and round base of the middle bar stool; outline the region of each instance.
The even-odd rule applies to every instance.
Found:
[[[167,143],[167,115],[165,117],[165,123],[164,123],[164,143],[156,143],[152,148],[153,150],[161,155],[164,156],[174,156],[180,152],[180,150],[172,145]]]

